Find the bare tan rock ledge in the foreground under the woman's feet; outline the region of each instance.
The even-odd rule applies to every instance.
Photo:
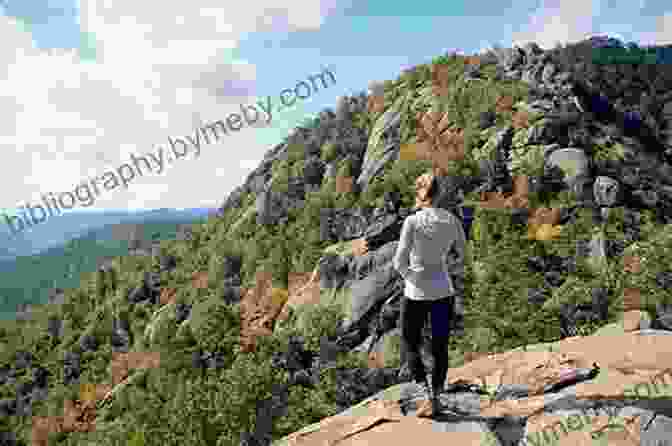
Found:
[[[411,383],[386,388],[275,446],[664,445],[672,427],[670,332],[604,333],[482,355],[448,372],[432,415]],[[622,348],[610,348],[613,343]]]

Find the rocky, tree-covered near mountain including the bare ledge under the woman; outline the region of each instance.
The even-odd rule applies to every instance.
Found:
[[[672,65],[595,48],[446,54],[340,98],[217,216],[3,326],[2,444],[667,444]],[[439,413],[392,268],[428,169],[469,238]]]

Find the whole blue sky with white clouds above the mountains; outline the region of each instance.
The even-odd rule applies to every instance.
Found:
[[[672,7],[662,1],[248,3],[0,0],[0,207],[73,191],[239,104],[268,95],[275,104],[324,67],[336,84],[270,125],[245,126],[75,209],[218,206],[299,121],[450,50],[548,48],[605,33],[672,42]]]

